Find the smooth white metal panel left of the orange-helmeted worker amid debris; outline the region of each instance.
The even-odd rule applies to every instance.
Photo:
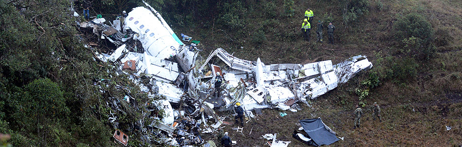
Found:
[[[159,95],[165,96],[165,98],[167,98],[167,100],[170,102],[179,102],[181,96],[184,94],[182,89],[177,88],[175,85],[169,83],[156,81],[156,85],[159,87]]]

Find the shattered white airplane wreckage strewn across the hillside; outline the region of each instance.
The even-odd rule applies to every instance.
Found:
[[[253,113],[264,108],[296,112],[300,110],[297,102],[307,103],[307,99],[318,98],[360,71],[372,68],[372,63],[363,55],[338,64],[326,60],[304,65],[265,65],[260,58],[257,61],[239,59],[220,48],[202,58],[196,44],[183,44],[162,16],[144,4],[146,7],[133,8],[128,16],[114,20],[111,25],[106,25],[104,18],[79,25],[92,28],[92,33],[118,47],[109,54],[96,52],[98,59],[95,60],[119,65],[117,74],[128,74],[149,97],[165,98],[156,100],[157,109],[164,112],[163,118],[156,118],[159,123],[148,124],[161,131],[141,129],[148,134],[142,138],[146,144],[213,147],[214,143],[204,141],[201,134],[217,132],[224,127],[222,124],[232,124],[215,111],[232,111],[234,104],[240,102],[248,119],[256,117]],[[191,37],[184,39],[189,41]],[[212,95],[217,72],[222,73],[224,79],[221,97]],[[149,84],[140,82],[142,76],[149,78]],[[131,98],[124,99],[130,101]],[[119,106],[116,101],[109,102],[108,106],[112,108],[109,121],[117,128],[118,119],[112,112],[120,111]],[[145,125],[142,120],[139,123]],[[115,131],[114,138],[127,145],[128,135],[120,130]]]

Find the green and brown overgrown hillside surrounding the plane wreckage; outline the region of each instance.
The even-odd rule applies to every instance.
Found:
[[[345,137],[331,147],[462,145],[461,0],[147,1],[176,34],[201,41],[204,55],[223,48],[267,64],[336,64],[362,54],[373,63],[371,70],[311,100],[313,107],[301,103],[302,111],[285,117],[266,109],[246,126],[252,133],[230,131],[239,147],[265,147],[260,137],[267,133],[279,133],[278,140],[292,142],[289,147],[305,147],[291,133],[298,120],[313,117]],[[140,4],[100,0],[91,13],[115,19]],[[112,138],[106,101],[129,89],[138,103],[148,103],[138,109],[125,104],[121,130],[133,128],[150,106],[127,75],[115,75],[113,65],[93,60],[98,50],[84,45],[97,37],[79,30],[75,21],[84,18],[74,18],[71,5],[69,0],[0,0],[0,133],[11,135],[0,139],[0,146],[120,146]],[[324,42],[316,42],[316,24],[311,42],[303,40],[299,28],[307,7],[313,22],[336,26],[335,45],[327,44],[326,29]],[[374,102],[382,108],[381,123],[372,121]],[[358,103],[365,106],[362,127],[353,129]],[[129,133],[129,146],[141,146],[136,130]]]

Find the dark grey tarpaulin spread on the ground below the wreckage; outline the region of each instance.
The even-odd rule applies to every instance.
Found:
[[[313,139],[319,146],[330,145],[340,140],[335,136],[335,132],[325,125],[320,118],[300,120],[299,122],[309,138]]]

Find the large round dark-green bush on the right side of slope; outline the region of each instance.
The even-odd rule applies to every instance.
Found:
[[[411,13],[399,18],[393,25],[396,33],[395,38],[400,42],[403,53],[428,60],[432,56],[435,47],[434,30],[432,25],[420,14]]]

